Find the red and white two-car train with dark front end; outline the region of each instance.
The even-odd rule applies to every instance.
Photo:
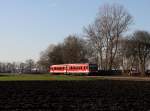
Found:
[[[55,74],[89,74],[97,72],[97,64],[60,64],[60,65],[51,65],[50,73]]]

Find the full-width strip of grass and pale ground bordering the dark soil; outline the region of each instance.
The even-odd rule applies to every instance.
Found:
[[[0,74],[0,81],[79,81],[79,80],[150,81],[150,77],[73,76],[73,75],[51,75],[51,74]]]

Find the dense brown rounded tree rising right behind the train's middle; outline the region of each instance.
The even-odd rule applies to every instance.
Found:
[[[63,60],[65,63],[87,62],[85,41],[76,35],[69,35],[64,40]]]

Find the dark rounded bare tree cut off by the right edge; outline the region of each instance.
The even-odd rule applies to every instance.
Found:
[[[139,61],[140,72],[145,75],[146,61],[150,59],[150,34],[146,31],[136,31],[131,41],[132,51],[137,55]]]

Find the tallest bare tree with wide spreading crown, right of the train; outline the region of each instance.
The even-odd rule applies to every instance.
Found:
[[[104,50],[106,50],[108,69],[112,69],[118,50],[118,40],[123,32],[127,31],[132,17],[123,6],[107,4],[101,8],[97,20],[100,22],[102,36],[105,38]]]

